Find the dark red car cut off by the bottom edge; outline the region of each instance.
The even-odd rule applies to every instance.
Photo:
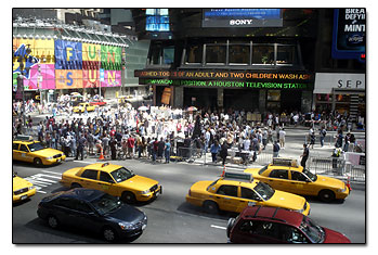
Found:
[[[231,243],[350,243],[342,233],[324,228],[288,209],[247,206],[226,229]]]

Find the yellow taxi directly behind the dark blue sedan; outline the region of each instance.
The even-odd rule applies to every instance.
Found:
[[[146,202],[162,193],[158,181],[109,163],[95,163],[66,170],[62,175],[61,183],[67,188],[101,190],[119,196],[127,203]]]

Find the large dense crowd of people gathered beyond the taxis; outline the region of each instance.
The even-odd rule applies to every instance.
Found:
[[[61,116],[57,120],[55,113],[58,111],[51,111],[54,114],[37,125],[38,140],[64,151],[68,156],[81,160],[86,154],[112,160],[146,157],[153,162],[165,158],[166,163],[170,162],[171,155],[185,154],[179,148],[210,152],[213,162],[221,157],[223,164],[231,148],[248,152],[242,155],[255,161],[266,144],[272,143],[273,154],[279,156],[279,150],[285,149],[285,127],[303,124],[304,119],[298,112],[287,115],[268,113],[260,115],[260,122],[255,122],[252,113],[246,111],[193,112],[169,106],[139,111],[131,105],[118,105],[97,107],[91,117],[68,115],[67,119]],[[327,130],[334,130],[333,125],[338,125],[336,145],[348,151],[355,141],[351,133],[342,136],[348,128],[348,116],[338,113],[331,116],[311,116],[308,143],[312,148],[315,143],[315,124],[321,126],[318,137],[322,146]],[[16,118],[13,132],[21,133],[23,119]],[[28,116],[27,133],[31,133],[32,126],[32,118]],[[245,157],[243,160],[247,161]]]

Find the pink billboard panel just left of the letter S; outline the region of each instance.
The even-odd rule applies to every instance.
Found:
[[[38,76],[41,76],[38,82]],[[30,68],[30,79],[24,79],[24,87],[26,90],[34,89],[55,89],[55,66],[54,64],[40,64],[40,72],[38,65]]]

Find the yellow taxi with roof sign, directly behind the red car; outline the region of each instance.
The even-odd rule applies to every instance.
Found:
[[[304,197],[274,190],[245,173],[225,171],[216,181],[198,181],[191,187],[186,202],[203,206],[211,214],[219,209],[240,213],[251,205],[282,207],[303,215],[310,213],[310,204]]]

